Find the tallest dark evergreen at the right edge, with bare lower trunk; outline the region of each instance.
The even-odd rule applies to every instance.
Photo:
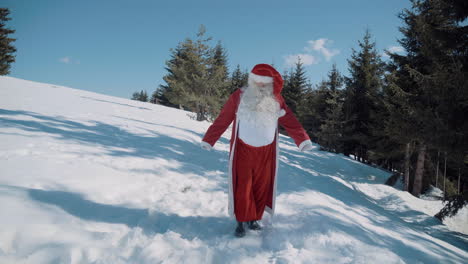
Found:
[[[418,149],[411,188],[416,196],[430,182],[423,175],[425,157],[431,153],[446,152],[447,164],[466,170],[462,157],[468,149],[464,118],[468,114],[468,30],[458,23],[463,16],[457,9],[459,4],[449,0],[412,1],[412,8],[400,14],[405,26],[400,28],[404,37],[399,42],[407,54],[389,53],[393,94],[388,101],[403,108],[400,114],[392,113],[391,121],[405,128],[404,132],[393,129],[392,133],[401,135],[400,142]]]

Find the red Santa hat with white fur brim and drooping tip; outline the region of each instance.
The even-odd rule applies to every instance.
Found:
[[[283,77],[269,64],[257,64],[249,73],[249,82],[273,83],[273,94],[281,102],[281,90],[283,90]]]

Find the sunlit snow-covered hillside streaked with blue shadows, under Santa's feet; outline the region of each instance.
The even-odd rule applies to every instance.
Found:
[[[284,136],[277,215],[235,238],[229,131],[209,152],[199,147],[208,126],[182,110],[0,77],[0,263],[467,263],[468,226],[432,217],[440,201]]]

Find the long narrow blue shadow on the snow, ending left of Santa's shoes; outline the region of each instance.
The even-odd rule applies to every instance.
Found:
[[[181,234],[186,239],[197,237],[202,240],[211,240],[223,234],[232,235],[234,227],[233,221],[228,217],[184,217],[176,214],[150,213],[147,209],[96,203],[72,192],[25,190],[33,200],[57,206],[80,219],[109,224],[124,224],[130,228],[140,227],[147,235],[165,233],[171,230]]]

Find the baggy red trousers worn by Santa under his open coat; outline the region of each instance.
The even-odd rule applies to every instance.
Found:
[[[275,146],[273,143],[254,147],[240,138],[236,142],[236,189],[234,213],[237,221],[262,219],[271,193]]]

